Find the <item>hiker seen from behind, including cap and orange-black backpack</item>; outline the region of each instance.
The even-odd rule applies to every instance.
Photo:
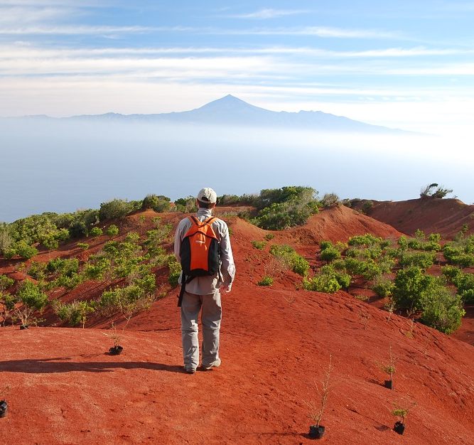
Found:
[[[181,306],[184,370],[190,374],[196,371],[199,364],[198,316],[200,311],[202,311],[201,323],[203,325],[201,367],[203,370],[210,370],[220,365],[219,331],[222,318],[220,294],[230,292],[235,277],[229,229],[225,221],[212,217],[212,209],[215,208],[216,203],[215,191],[212,188],[203,188],[196,200],[198,213],[181,220],[175,235],[174,252],[183,267],[178,306]],[[199,232],[196,236],[200,238],[194,240],[190,236],[192,232]],[[205,235],[203,235],[204,232]],[[210,240],[210,247],[203,247],[208,240]],[[215,245],[212,245],[212,242]],[[195,254],[193,249],[199,247],[202,252]],[[199,269],[198,273],[195,273],[195,269],[185,272],[189,268],[193,269],[193,266],[185,265],[185,259],[193,257],[192,261],[188,259],[188,263],[193,263],[196,257],[202,257],[203,254],[206,255],[206,264],[202,266],[202,269]],[[208,269],[208,254],[217,255],[215,259],[209,259],[209,264],[215,262],[217,265],[214,268],[209,267],[210,270],[203,270]]]

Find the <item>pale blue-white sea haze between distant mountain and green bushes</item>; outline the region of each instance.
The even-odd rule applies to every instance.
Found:
[[[99,208],[113,198],[141,200],[149,193],[176,200],[203,186],[218,195],[296,185],[340,198],[404,200],[438,182],[472,201],[468,166],[446,159],[433,137],[179,121],[0,119],[0,221]]]

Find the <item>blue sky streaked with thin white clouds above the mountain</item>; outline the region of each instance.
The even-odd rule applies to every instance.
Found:
[[[0,0],[0,116],[274,111],[472,134],[474,1]]]

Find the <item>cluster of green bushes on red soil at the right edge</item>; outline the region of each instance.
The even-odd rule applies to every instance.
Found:
[[[443,253],[454,259],[453,264],[443,267],[443,277],[426,274],[433,266],[439,251],[440,235],[428,238],[418,230],[416,237],[407,240],[399,237],[397,246],[389,240],[373,235],[358,235],[344,245],[335,248],[330,241],[320,242],[321,259],[329,261],[313,278],[306,277],[303,287],[308,290],[333,293],[350,284],[350,278],[362,276],[370,282],[370,289],[383,298],[389,298],[395,309],[421,311],[420,321],[445,333],[451,333],[460,326],[464,315],[463,302],[474,302],[474,274],[463,272],[461,267],[470,264],[467,259],[474,253],[474,237],[464,239],[463,232],[458,239],[447,243]],[[336,251],[344,252],[339,258]],[[460,258],[463,260],[460,261]],[[392,279],[392,270],[402,267]],[[450,289],[454,284],[457,292]]]

